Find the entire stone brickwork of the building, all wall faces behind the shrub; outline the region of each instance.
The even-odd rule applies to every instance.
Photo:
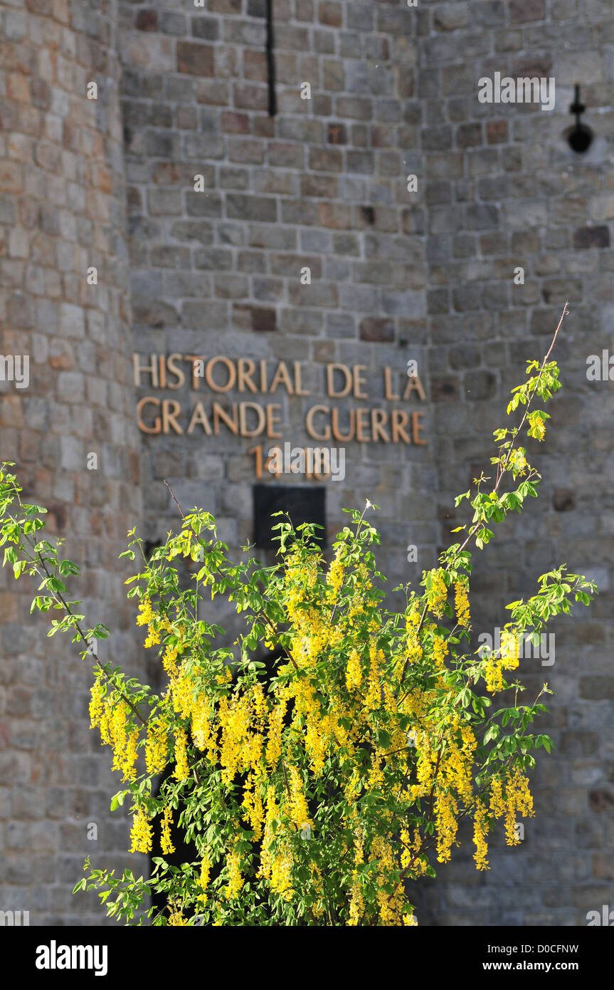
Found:
[[[479,874],[467,837],[437,881],[420,886],[416,906],[424,925],[570,926],[585,924],[590,909],[614,907],[614,393],[585,375],[586,356],[614,345],[609,0],[418,0],[412,9],[402,0],[274,0],[275,117],[263,0],[120,2],[95,13],[81,0],[65,11],[40,2],[4,12],[5,45],[15,52],[0,108],[3,135],[11,132],[1,164],[3,285],[12,307],[4,326],[20,341],[28,335],[37,378],[33,397],[4,388],[2,456],[19,462],[41,500],[74,503],[99,605],[115,608],[121,594],[116,546],[104,537],[112,532],[117,544],[140,520],[140,491],[147,540],[176,525],[163,478],[184,510],[214,512],[219,535],[240,553],[252,538],[249,451],[267,444],[223,428],[187,435],[197,400],[209,412],[214,400],[227,408],[250,396],[215,394],[204,383],[192,390],[185,361],[182,387],[156,388],[144,372],[132,389],[131,305],[141,365],[151,354],[226,355],[266,360],[271,375],[280,360],[301,362],[310,395],[275,395],[283,439],[293,444],[313,443],[304,421],[314,403],[345,414],[361,404],[424,413],[426,445],[348,443],[345,480],[325,482],[330,534],[342,508],[366,497],[381,506],[379,559],[394,585],[431,566],[453,539],[450,529],[464,521],[454,496],[487,472],[509,388],[525,360],[543,354],[569,300],[557,351],[565,391],[552,404],[547,442],[531,450],[542,496],[477,559],[474,630],[503,625],[504,605],[561,562],[592,576],[601,595],[589,613],[555,627],[553,666],[526,663],[532,697],[543,679],[557,692],[542,723],[557,748],[540,750],[537,816],[525,823],[525,841],[514,849],[493,841],[491,870]],[[495,71],[553,76],[555,109],[480,103],[479,79]],[[83,98],[88,79],[99,83],[97,104]],[[310,99],[302,99],[304,83]],[[585,155],[566,141],[574,83],[595,133]],[[80,274],[90,263],[105,272],[96,295]],[[301,281],[306,266],[310,284]],[[514,284],[518,267],[524,284]],[[7,340],[3,347],[18,347]],[[418,361],[426,400],[387,401],[383,371],[400,383],[408,358]],[[369,399],[328,399],[330,362],[364,366]],[[179,404],[181,435],[171,426],[134,436],[136,401],[148,396]],[[148,419],[143,412],[147,423],[153,408]],[[109,466],[94,483],[81,451],[103,448]],[[60,513],[62,532],[70,518]],[[418,547],[417,565],[406,562],[408,544]],[[29,907],[15,897],[49,898],[39,923],[52,916],[75,924],[86,910],[66,893],[80,856],[78,816],[104,821],[113,864],[123,861],[124,833],[105,817],[108,763],[87,732],[87,678],[78,664],[56,665],[55,654],[46,661],[72,685],[75,743],[59,692],[43,706],[51,676],[43,646],[23,632],[24,603],[3,582],[7,906]],[[130,650],[122,616],[116,642]],[[18,667],[12,642],[35,663],[32,673]],[[32,735],[24,738],[27,719]],[[45,757],[42,774],[36,764],[50,745],[43,734],[58,755]],[[56,763],[68,767],[69,758],[62,772],[76,780],[91,767],[98,783],[55,781]],[[67,801],[85,794],[87,812],[53,805],[58,786]],[[25,794],[29,812],[10,803]],[[22,850],[11,842],[18,835],[25,843],[24,822],[30,845]],[[87,911],[80,921],[90,924],[91,903]]]

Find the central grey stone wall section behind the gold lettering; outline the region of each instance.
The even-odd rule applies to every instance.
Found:
[[[143,366],[161,353],[266,359],[269,383],[278,361],[300,361],[310,396],[280,388],[274,398],[283,439],[312,445],[305,414],[325,400],[327,363],[364,366],[369,400],[353,404],[389,410],[401,403],[385,399],[384,367],[397,389],[407,359],[423,363],[423,195],[407,192],[407,175],[424,175],[413,150],[415,20],[385,5],[277,0],[271,117],[264,14],[260,0],[122,7],[135,347]],[[306,266],[310,284],[301,281]],[[191,396],[189,368],[180,366],[182,388],[152,389],[143,372],[138,396],[166,396],[182,411],[198,398],[209,412],[212,399],[236,400],[204,383]],[[427,403],[413,395],[403,405]],[[146,411],[151,425],[156,409]],[[187,436],[188,419],[177,421],[182,436],[173,428],[142,436],[148,539],[177,520],[166,477],[184,509],[204,502],[216,514],[219,535],[238,551],[252,538],[248,451],[259,441],[225,430],[208,437],[202,428]],[[366,497],[381,506],[395,584],[407,575],[408,543],[420,545],[422,565],[435,555],[434,509],[424,498],[435,484],[426,412],[423,422],[426,444],[349,444],[345,480],[327,483],[331,535],[343,508],[362,507]]]

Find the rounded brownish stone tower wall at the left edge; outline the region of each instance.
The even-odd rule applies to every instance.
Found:
[[[29,0],[1,17],[0,349],[31,360],[27,388],[0,383],[0,456],[82,567],[68,597],[115,632],[100,657],[130,663],[117,556],[140,489],[117,7]],[[30,911],[31,925],[100,924],[96,898],[70,893],[83,861],[133,857],[126,823],[109,813],[117,774],[88,729],[91,663],[69,638],[46,639],[48,614],[30,617],[38,583],[16,592],[10,568],[0,574],[0,908]]]

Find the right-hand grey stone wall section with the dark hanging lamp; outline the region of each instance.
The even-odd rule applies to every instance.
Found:
[[[467,841],[437,887],[426,885],[420,917],[584,925],[588,910],[614,898],[614,462],[606,427],[614,397],[609,383],[586,380],[587,355],[612,347],[614,318],[611,6],[510,0],[420,8],[429,394],[442,510],[489,473],[485,445],[503,425],[509,389],[525,361],[546,352],[570,304],[554,355],[565,387],[552,402],[546,442],[530,447],[541,499],[528,500],[486,547],[474,581],[474,632],[503,626],[505,604],[535,593],[537,577],[564,562],[601,592],[589,613],[578,607],[552,627],[552,666],[523,663],[527,701],[544,680],[556,692],[542,723],[556,749],[539,752],[531,775],[536,817],[525,822],[525,840],[512,849],[499,842],[485,875],[473,869]],[[554,77],[555,109],[481,104],[478,80],[495,71]],[[585,154],[566,140],[575,83],[595,136]],[[524,284],[514,284],[518,267]],[[461,521],[453,517],[452,526]]]

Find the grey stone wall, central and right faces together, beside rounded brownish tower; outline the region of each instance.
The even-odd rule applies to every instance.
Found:
[[[612,902],[612,400],[585,377],[613,312],[607,5],[276,2],[273,119],[264,4],[206,7],[124,8],[136,346],[143,359],[300,359],[320,395],[322,362],[426,366],[428,446],[349,445],[347,480],[327,494],[333,531],[343,506],[382,506],[395,580],[414,574],[407,543],[428,566],[460,521],[453,496],[487,469],[508,389],[570,301],[557,350],[566,391],[544,451],[532,450],[543,498],[478,561],[475,631],[503,625],[504,605],[559,562],[602,595],[589,619],[556,628],[553,667],[527,661],[529,689],[546,677],[557,691],[544,724],[558,749],[534,773],[538,816],[523,845],[495,848],[484,876],[468,842],[418,904],[426,924],[583,924]],[[478,80],[494,71],[554,76],[554,111],[481,104]],[[566,141],[576,82],[595,132],[583,156]],[[196,173],[205,192],[192,191]],[[296,443],[303,412],[288,403]],[[172,432],[144,443],[152,533],[173,515],[160,484],[170,475],[184,502],[216,512],[231,545],[251,536],[251,445]]]

